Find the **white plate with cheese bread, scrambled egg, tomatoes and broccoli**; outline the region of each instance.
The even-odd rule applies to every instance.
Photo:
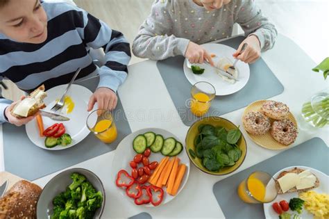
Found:
[[[264,204],[266,218],[328,218],[329,177],[305,166],[284,168],[273,175],[278,196]]]

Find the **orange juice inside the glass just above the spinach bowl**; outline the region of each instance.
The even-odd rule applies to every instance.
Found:
[[[208,112],[210,108],[210,98],[208,95],[198,92],[193,95],[191,111],[196,116],[201,116]]]

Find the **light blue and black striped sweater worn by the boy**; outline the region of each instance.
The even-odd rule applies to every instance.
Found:
[[[97,71],[98,87],[117,91],[130,60],[124,35],[69,3],[43,2],[42,7],[48,17],[48,37],[42,44],[15,42],[0,33],[0,80],[9,79],[26,92],[41,84],[48,90],[69,83],[81,67],[77,79]],[[98,68],[92,63],[90,48],[103,48],[105,65]],[[10,103],[0,99],[0,123],[6,122],[4,110]]]

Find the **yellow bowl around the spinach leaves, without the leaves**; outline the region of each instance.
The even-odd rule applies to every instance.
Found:
[[[239,160],[237,162],[235,162],[235,165],[230,166],[230,167],[221,168],[218,172],[213,172],[213,171],[207,170],[202,165],[201,159],[199,159],[198,157],[193,159],[191,154],[189,154],[189,149],[192,149],[195,152],[196,145],[194,145],[194,139],[196,138],[196,136],[199,135],[198,127],[201,124],[211,124],[214,127],[219,127],[219,126],[224,127],[228,131],[231,129],[237,129],[237,126],[235,124],[233,124],[232,122],[230,122],[222,117],[216,117],[216,116],[203,117],[201,120],[194,122],[194,124],[192,124],[192,126],[189,127],[189,130],[187,131],[187,135],[185,138],[185,145],[186,145],[185,149],[186,149],[187,155],[189,156],[189,159],[192,161],[192,163],[197,168],[199,168],[199,170],[206,172],[210,175],[228,175],[231,172],[237,170],[237,168],[239,168],[239,166],[242,165],[242,163],[244,162],[244,159],[246,158],[246,139],[244,138],[243,134],[241,135],[241,138],[237,142],[237,146],[239,147],[239,149],[242,150],[242,156],[239,158]]]

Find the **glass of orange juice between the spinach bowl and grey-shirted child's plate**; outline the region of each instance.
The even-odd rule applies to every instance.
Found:
[[[202,116],[208,112],[211,101],[216,95],[216,90],[212,84],[200,81],[195,83],[191,89],[191,111],[196,116]]]

